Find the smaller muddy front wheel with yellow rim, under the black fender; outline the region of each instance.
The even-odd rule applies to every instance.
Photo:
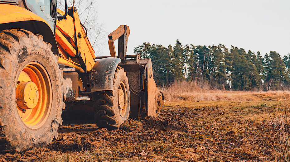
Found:
[[[93,95],[96,124],[109,130],[118,129],[130,113],[128,78],[124,69],[119,66],[115,71],[113,84],[114,91],[100,91]]]

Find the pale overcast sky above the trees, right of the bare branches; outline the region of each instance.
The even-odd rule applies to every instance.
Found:
[[[127,55],[143,42],[217,45],[290,53],[289,0],[101,0],[98,19],[109,34],[130,27]],[[106,37],[104,55],[109,55]],[[118,41],[116,41],[118,42]]]

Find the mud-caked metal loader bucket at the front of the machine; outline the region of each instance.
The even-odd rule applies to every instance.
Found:
[[[157,116],[164,104],[163,93],[160,92],[153,79],[151,59],[132,59],[119,64],[127,73],[130,87],[130,116],[142,119],[146,116]]]

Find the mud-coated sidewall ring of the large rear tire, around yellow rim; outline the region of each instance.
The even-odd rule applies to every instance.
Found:
[[[3,94],[3,99],[7,102],[2,107],[0,118],[2,125],[4,125],[2,129],[4,129],[8,137],[7,140],[10,141],[12,148],[15,148],[17,151],[25,150],[29,147],[47,146],[57,136],[57,128],[62,123],[62,80],[60,69],[57,61],[55,61],[57,60],[57,56],[53,55],[51,51],[48,51],[49,48],[43,48],[43,45],[46,45],[46,43],[43,42],[41,45],[41,42],[38,42],[28,49],[14,49],[19,56],[17,56],[17,59],[11,59],[11,67],[13,68],[9,70],[10,77],[5,79],[10,84],[5,87],[7,93]],[[16,104],[17,79],[25,65],[32,61],[40,63],[46,69],[52,86],[51,110],[44,124],[38,129],[31,129],[24,124],[18,114]],[[7,73],[9,72],[7,71]]]

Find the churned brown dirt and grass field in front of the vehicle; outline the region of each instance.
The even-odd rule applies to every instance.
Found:
[[[279,161],[266,107],[257,93],[246,95],[252,99],[167,102],[157,118],[130,119],[113,131],[65,122],[47,148],[6,153],[0,161]],[[281,104],[275,98],[267,96],[270,112]]]

